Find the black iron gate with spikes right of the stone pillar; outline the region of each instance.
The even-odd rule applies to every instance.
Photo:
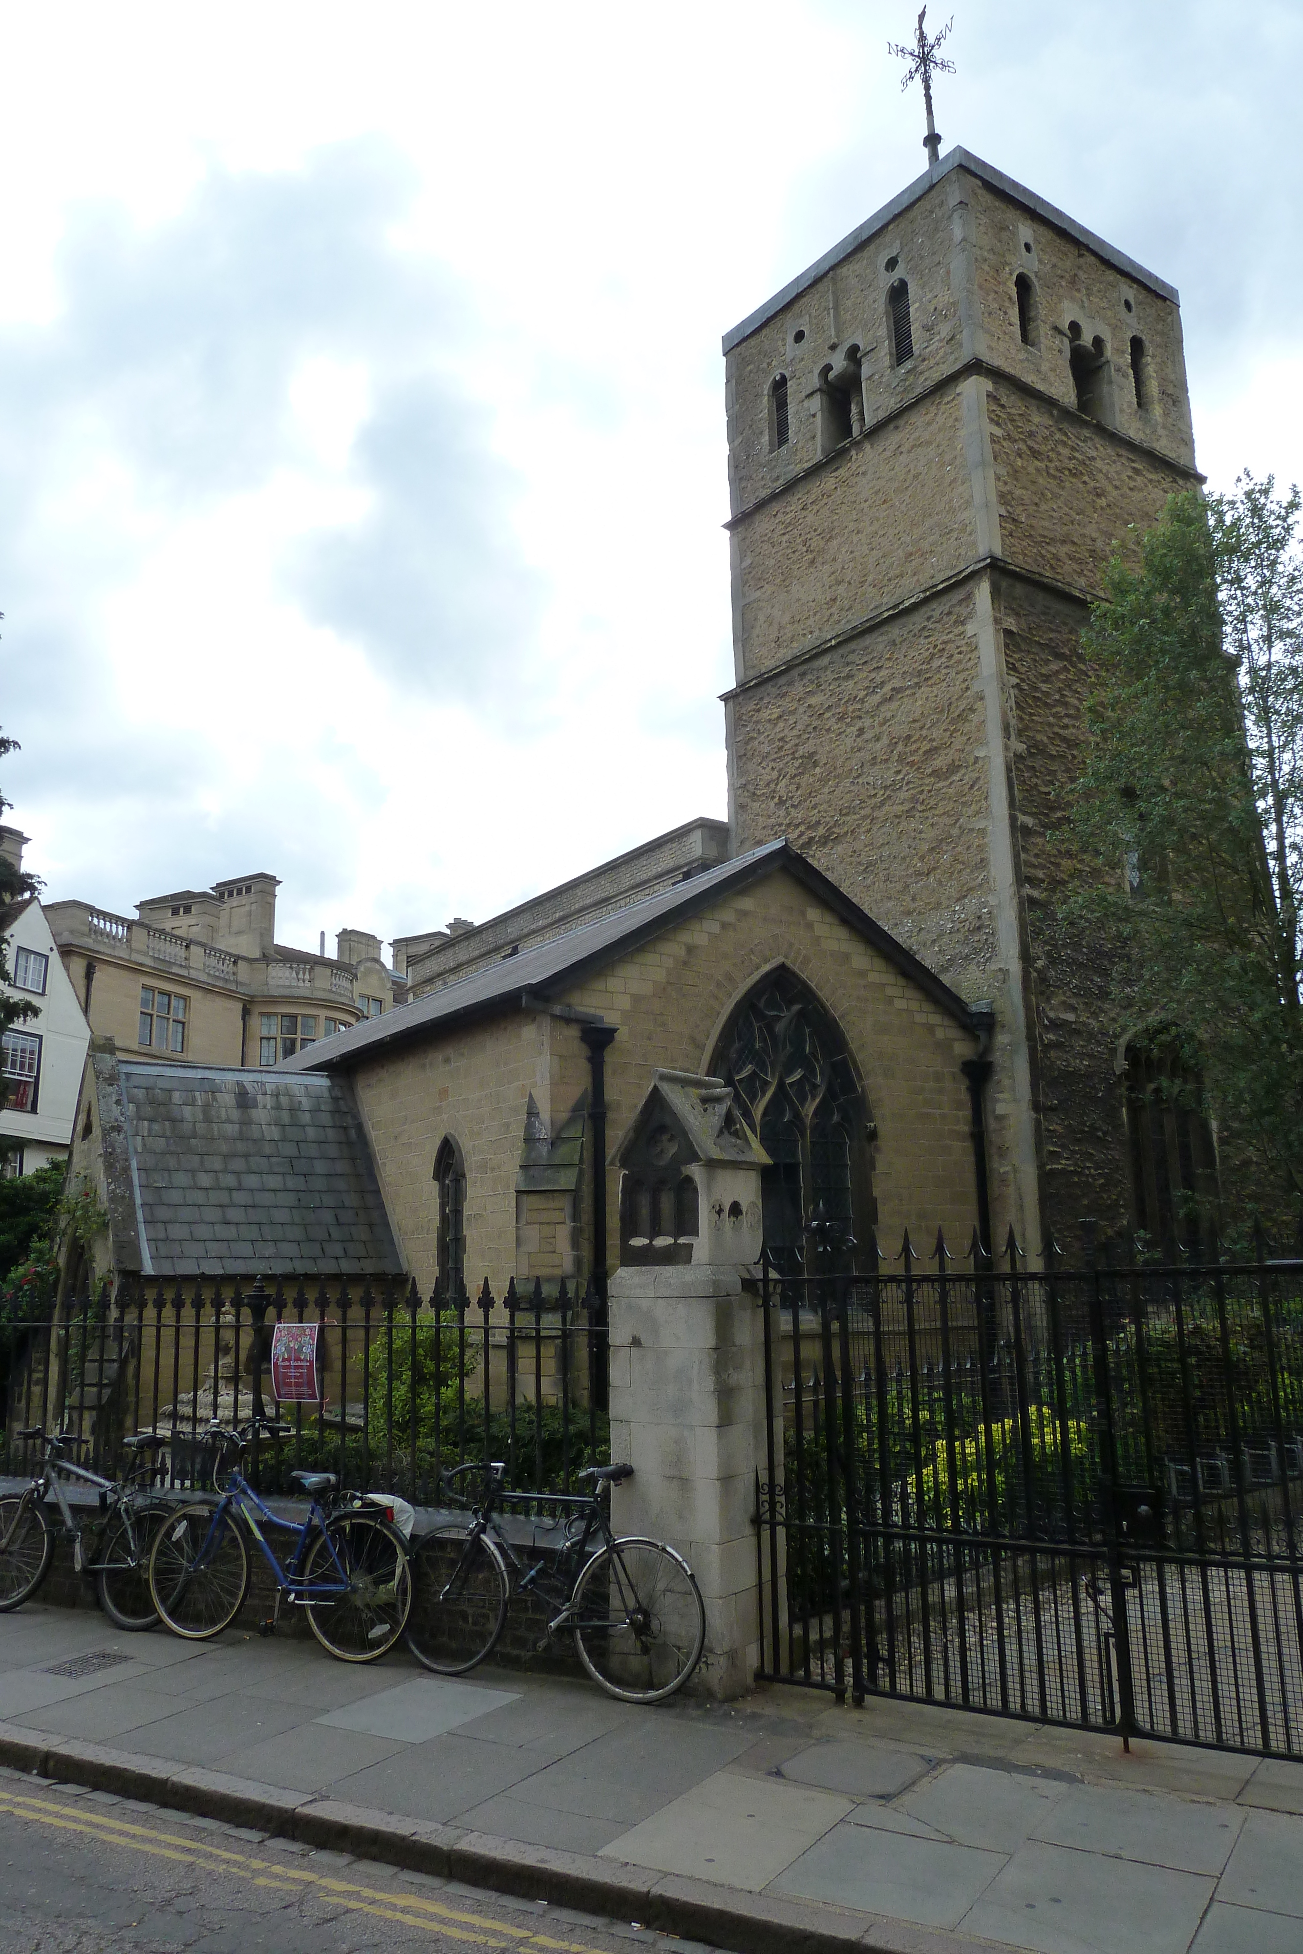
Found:
[[[1303,1260],[762,1284],[760,1675],[1303,1757]]]

